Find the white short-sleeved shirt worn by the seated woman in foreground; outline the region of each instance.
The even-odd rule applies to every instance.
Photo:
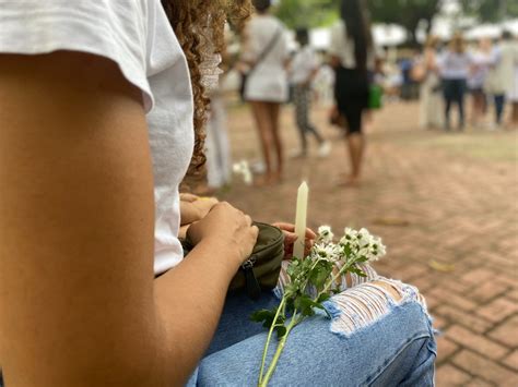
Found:
[[[193,102],[187,61],[160,0],[0,0],[0,52],[106,57],[142,90],[155,183],[155,274],[177,265],[178,185],[192,157]]]

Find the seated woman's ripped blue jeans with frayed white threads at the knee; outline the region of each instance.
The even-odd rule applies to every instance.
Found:
[[[366,279],[353,275],[339,283],[342,292],[326,305],[332,319],[317,315],[294,328],[270,386],[434,385],[436,343],[424,299],[414,287],[365,269]],[[243,294],[227,298],[188,386],[257,385],[267,332],[249,316],[278,304],[274,293],[282,293],[285,281],[282,274],[275,291],[258,302]]]

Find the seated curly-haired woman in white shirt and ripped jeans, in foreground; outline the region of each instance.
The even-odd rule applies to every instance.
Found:
[[[203,164],[225,13],[248,7],[0,0],[0,385],[255,383],[264,334],[248,314],[274,297],[227,288],[258,230],[178,194],[191,156],[192,171]],[[278,226],[290,251],[293,226]],[[337,334],[301,325],[272,384],[431,383],[420,297],[369,274],[339,294],[370,314],[363,328],[342,328],[361,322],[345,312]]]

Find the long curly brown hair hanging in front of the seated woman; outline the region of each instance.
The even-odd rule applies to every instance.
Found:
[[[204,124],[209,98],[201,83],[200,63],[224,50],[224,26],[229,21],[237,29],[251,11],[250,0],[162,0],[175,34],[189,63],[195,97],[195,153],[187,172],[190,180],[205,176]]]

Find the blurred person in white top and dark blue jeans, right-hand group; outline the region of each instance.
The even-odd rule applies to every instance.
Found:
[[[472,59],[466,50],[461,34],[456,34],[439,60],[443,95],[445,99],[445,130],[450,130],[450,111],[452,105],[459,109],[458,130],[464,129],[464,95]]]

